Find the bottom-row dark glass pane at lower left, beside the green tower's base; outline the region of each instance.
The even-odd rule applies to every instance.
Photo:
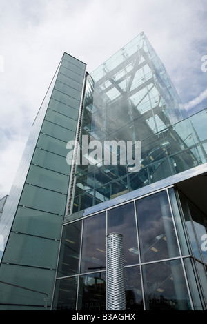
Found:
[[[76,296],[77,276],[57,280],[52,310],[75,310]]]

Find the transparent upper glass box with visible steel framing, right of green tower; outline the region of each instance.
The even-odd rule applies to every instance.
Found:
[[[205,163],[207,115],[198,117],[199,130],[196,117],[185,118],[164,65],[141,33],[87,77],[73,212]],[[85,139],[97,141],[99,150],[83,149]],[[127,143],[136,158],[135,141],[141,141],[139,172],[126,159]]]

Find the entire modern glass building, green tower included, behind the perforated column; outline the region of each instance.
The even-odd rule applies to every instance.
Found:
[[[91,74],[63,54],[0,223],[0,309],[106,310],[110,232],[124,237],[127,310],[206,309],[206,112],[186,118],[143,33]],[[130,141],[134,159],[141,141],[140,170],[121,163],[127,145],[104,163],[86,136]],[[83,163],[68,165],[75,140]]]

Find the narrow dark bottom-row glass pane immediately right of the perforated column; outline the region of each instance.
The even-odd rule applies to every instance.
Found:
[[[125,274],[125,293],[126,311],[143,310],[143,296],[141,289],[141,274],[139,267],[126,267]]]

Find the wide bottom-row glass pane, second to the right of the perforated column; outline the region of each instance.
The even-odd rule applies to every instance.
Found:
[[[191,310],[180,260],[144,265],[146,310]]]

